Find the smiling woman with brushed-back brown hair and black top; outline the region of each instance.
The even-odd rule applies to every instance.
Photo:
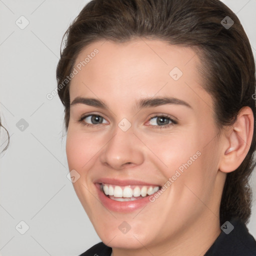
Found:
[[[255,65],[218,0],[92,0],[57,66],[81,255],[256,255]]]

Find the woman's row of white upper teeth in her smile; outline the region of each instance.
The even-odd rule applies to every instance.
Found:
[[[113,195],[114,197],[137,197],[150,195],[159,190],[159,186],[117,186],[110,184],[103,184],[103,191],[106,195]]]

